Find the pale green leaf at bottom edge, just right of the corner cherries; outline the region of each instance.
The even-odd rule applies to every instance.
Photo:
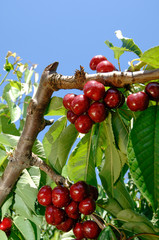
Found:
[[[14,224],[25,239],[36,240],[34,229],[29,220],[21,216],[17,216],[14,218]]]

